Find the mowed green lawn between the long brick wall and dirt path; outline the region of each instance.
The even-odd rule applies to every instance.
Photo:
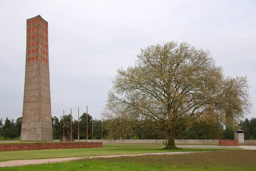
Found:
[[[23,159],[53,159],[65,157],[86,157],[115,154],[142,154],[180,151],[234,150],[238,148],[177,148],[163,149],[163,145],[104,145],[102,148],[73,148],[32,151],[1,151],[0,162]]]

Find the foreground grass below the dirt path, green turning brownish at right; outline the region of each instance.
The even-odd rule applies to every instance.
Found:
[[[0,171],[255,171],[256,151],[86,159],[0,168]]]

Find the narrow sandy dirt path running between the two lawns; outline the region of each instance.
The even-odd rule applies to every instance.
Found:
[[[20,166],[20,165],[32,165],[32,164],[54,163],[54,162],[69,162],[71,160],[80,160],[80,159],[137,157],[137,156],[146,156],[146,155],[174,155],[174,154],[188,154],[188,153],[202,153],[202,152],[209,152],[209,151],[146,153],[146,154],[122,154],[122,155],[70,157],[70,158],[56,158],[56,159],[12,160],[12,161],[0,162],[0,167],[12,167],[12,166]]]

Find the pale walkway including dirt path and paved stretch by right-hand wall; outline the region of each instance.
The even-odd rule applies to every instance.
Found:
[[[247,150],[256,150],[256,146],[177,145],[177,147],[183,147],[183,148],[244,148]],[[70,157],[70,158],[56,158],[56,159],[12,160],[12,161],[0,162],[0,167],[12,167],[12,166],[20,166],[20,165],[43,164],[43,163],[53,163],[53,162],[69,162],[71,160],[80,160],[80,159],[115,158],[115,157],[131,157],[131,156],[137,157],[137,156],[146,156],[146,155],[175,155],[175,154],[191,154],[191,153],[205,153],[205,152],[210,152],[210,151],[122,154],[122,155]]]

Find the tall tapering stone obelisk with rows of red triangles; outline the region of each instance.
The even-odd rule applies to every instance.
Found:
[[[26,20],[26,69],[21,141],[52,141],[48,22]]]

